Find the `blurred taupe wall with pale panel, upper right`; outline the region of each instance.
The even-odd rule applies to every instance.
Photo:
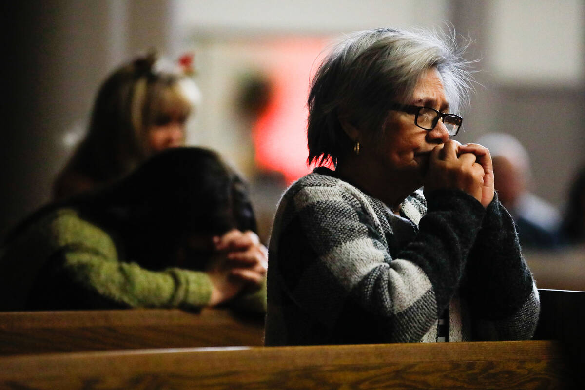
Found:
[[[504,132],[526,148],[532,191],[562,209],[585,164],[585,2],[451,2],[459,34],[473,43],[476,94],[462,142]]]

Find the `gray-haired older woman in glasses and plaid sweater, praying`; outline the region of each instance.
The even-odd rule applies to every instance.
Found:
[[[335,170],[316,168],[278,206],[267,345],[532,336],[538,292],[490,153],[449,140],[469,88],[452,42],[363,31],[319,67],[309,161]]]

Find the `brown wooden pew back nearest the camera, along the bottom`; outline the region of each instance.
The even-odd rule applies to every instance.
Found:
[[[41,354],[0,357],[0,388],[574,388],[564,359],[545,340]]]

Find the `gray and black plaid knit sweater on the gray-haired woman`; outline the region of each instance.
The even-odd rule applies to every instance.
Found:
[[[278,205],[269,247],[266,345],[520,340],[538,292],[497,201],[417,191],[401,215],[327,168]],[[442,326],[441,326],[442,327]]]

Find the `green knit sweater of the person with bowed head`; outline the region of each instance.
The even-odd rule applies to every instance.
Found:
[[[200,308],[209,302],[205,272],[151,271],[140,259],[120,261],[118,251],[108,233],[76,210],[57,209],[0,254],[0,309]],[[264,312],[265,297],[262,288],[230,305]]]

